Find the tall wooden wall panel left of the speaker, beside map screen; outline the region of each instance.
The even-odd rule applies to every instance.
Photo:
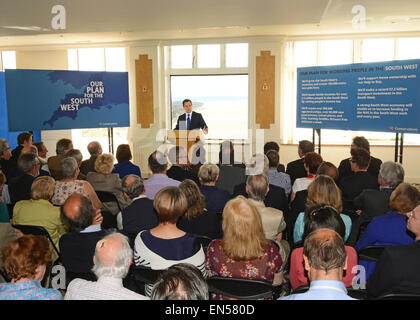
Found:
[[[153,64],[147,54],[136,60],[137,123],[150,128],[155,122],[153,111]]]

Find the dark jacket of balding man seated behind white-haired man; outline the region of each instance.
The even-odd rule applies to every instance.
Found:
[[[59,241],[61,261],[66,272],[88,273],[93,267],[96,243],[106,236],[105,230],[64,234]]]

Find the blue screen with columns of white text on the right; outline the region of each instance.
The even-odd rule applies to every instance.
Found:
[[[297,69],[296,127],[419,133],[420,60]]]

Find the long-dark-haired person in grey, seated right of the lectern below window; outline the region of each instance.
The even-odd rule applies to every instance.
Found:
[[[216,187],[233,194],[238,184],[245,183],[245,168],[235,163],[235,150],[232,141],[223,141],[219,150],[219,179]]]

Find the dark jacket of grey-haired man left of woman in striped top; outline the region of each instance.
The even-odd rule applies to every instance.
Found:
[[[156,227],[159,221],[153,200],[147,197],[134,200],[122,211],[122,222],[123,231],[131,235]]]

